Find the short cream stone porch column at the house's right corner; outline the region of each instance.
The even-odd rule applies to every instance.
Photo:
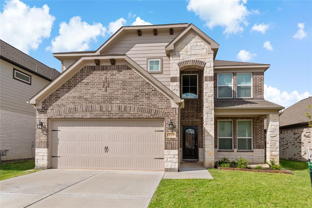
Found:
[[[276,163],[280,162],[279,126],[278,113],[266,115],[266,161],[274,159]]]

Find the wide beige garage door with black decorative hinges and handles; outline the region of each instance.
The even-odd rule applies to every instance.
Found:
[[[54,120],[52,168],[164,170],[163,120]]]

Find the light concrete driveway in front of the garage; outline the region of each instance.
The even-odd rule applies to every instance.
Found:
[[[1,207],[147,207],[164,172],[49,169],[0,182]]]

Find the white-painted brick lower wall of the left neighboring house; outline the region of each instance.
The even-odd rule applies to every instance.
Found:
[[[2,160],[35,157],[35,116],[2,109],[0,115],[0,149],[9,150]]]

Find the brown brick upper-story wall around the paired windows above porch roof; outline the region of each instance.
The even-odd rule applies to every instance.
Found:
[[[248,72],[250,73],[250,72]],[[217,86],[218,86],[218,73],[213,74],[214,79],[214,98],[220,100],[230,100],[230,99],[254,99],[263,98],[264,89],[264,72],[251,72],[252,73],[252,98],[238,98],[236,95],[236,85],[237,85],[237,73],[233,72],[233,98],[217,98]]]

